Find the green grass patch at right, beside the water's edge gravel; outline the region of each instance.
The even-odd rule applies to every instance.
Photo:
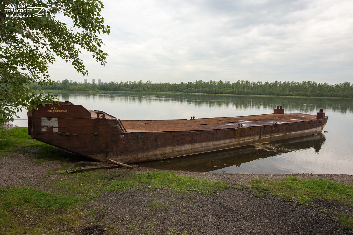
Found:
[[[252,184],[254,188],[300,203],[322,200],[353,206],[353,186],[331,180],[287,177],[280,181],[253,179]]]

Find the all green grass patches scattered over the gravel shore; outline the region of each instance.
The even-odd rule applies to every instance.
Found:
[[[33,150],[35,149],[35,151]],[[337,203],[353,207],[353,187],[324,179],[298,179],[288,177],[283,180],[253,179],[251,187],[230,186],[223,181],[209,181],[194,177],[180,176],[172,172],[96,170],[66,174],[63,170],[72,167],[76,155],[66,153],[47,144],[32,140],[26,128],[0,128],[0,157],[13,154],[35,155],[37,163],[57,160],[61,167],[47,169],[48,180],[38,188],[15,185],[0,188],[0,234],[65,234],[87,222],[96,223],[97,211],[92,204],[104,193],[124,193],[127,190],[154,191],[168,188],[178,195],[213,195],[230,187],[247,190],[257,197],[273,194],[276,197],[310,205],[313,201]],[[41,188],[41,189],[39,189]],[[170,195],[164,195],[170,197]],[[182,198],[182,197],[181,197]],[[174,199],[173,199],[174,200]],[[182,200],[182,199],[177,199]],[[168,210],[173,206],[150,198],[150,212]],[[353,217],[350,214],[336,213],[337,221],[343,228],[353,230]],[[146,223],[146,227],[155,224]],[[129,224],[127,229],[133,230]],[[116,228],[108,225],[104,234],[115,234]],[[172,228],[170,234],[176,234]],[[180,231],[179,234],[185,231]],[[147,234],[147,233],[146,233]]]

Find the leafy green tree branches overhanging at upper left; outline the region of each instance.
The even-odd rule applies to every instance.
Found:
[[[5,4],[7,7],[5,7]],[[10,6],[25,6],[9,7]],[[45,7],[41,16],[8,16],[8,10]],[[36,109],[48,104],[56,95],[41,91],[42,86],[53,86],[49,79],[48,64],[61,57],[70,62],[78,73],[87,75],[81,49],[92,53],[96,62],[104,65],[107,54],[100,47],[97,33],[109,33],[100,12],[102,1],[5,0],[0,5],[0,118],[13,120],[21,110]],[[39,10],[39,9],[38,9]],[[16,12],[14,13],[16,14]],[[56,19],[71,20],[71,25]],[[37,89],[29,87],[36,83]]]

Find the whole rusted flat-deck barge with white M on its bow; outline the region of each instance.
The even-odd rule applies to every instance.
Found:
[[[322,132],[328,117],[284,113],[178,120],[120,120],[65,101],[28,111],[32,138],[105,162],[138,163]]]

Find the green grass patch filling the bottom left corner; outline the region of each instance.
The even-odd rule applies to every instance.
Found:
[[[53,227],[78,223],[74,205],[83,200],[27,187],[0,189],[0,234],[56,234]]]

